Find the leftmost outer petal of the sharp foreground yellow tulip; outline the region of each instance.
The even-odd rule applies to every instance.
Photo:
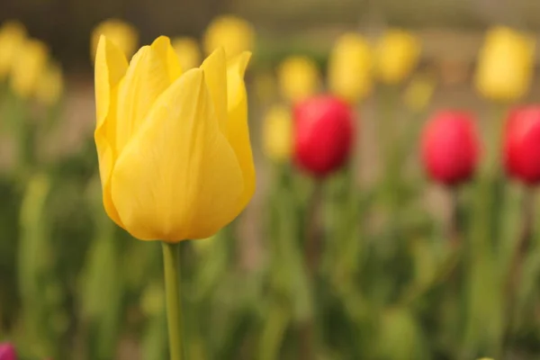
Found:
[[[128,68],[128,60],[104,36],[99,40],[95,56],[95,147],[99,160],[99,174],[103,188],[103,206],[109,217],[123,227],[112,203],[111,175],[116,161],[116,98],[118,83]]]

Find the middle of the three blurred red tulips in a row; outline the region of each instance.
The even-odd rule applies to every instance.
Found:
[[[438,112],[422,133],[422,160],[435,181],[454,185],[474,173],[479,140],[473,116],[466,112]]]

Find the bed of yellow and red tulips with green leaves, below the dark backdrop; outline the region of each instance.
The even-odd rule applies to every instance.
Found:
[[[414,31],[256,29],[96,24],[58,150],[72,79],[0,24],[0,360],[539,358],[533,35],[485,32],[474,112]]]

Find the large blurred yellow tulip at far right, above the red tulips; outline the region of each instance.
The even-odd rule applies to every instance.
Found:
[[[534,71],[535,40],[524,33],[496,27],[486,34],[474,85],[482,96],[515,101],[525,95]]]

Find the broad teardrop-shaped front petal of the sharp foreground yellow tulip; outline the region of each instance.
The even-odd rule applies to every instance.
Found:
[[[203,77],[189,70],[159,96],[116,162],[112,199],[136,238],[208,238],[236,216],[242,173]]]

